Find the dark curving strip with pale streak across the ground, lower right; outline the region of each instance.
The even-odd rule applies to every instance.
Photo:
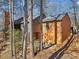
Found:
[[[53,53],[49,59],[60,59],[64,52],[68,49],[68,47],[70,46],[70,44],[73,42],[74,38],[73,38],[74,35],[71,36],[71,38],[67,41],[67,43],[62,47],[60,48],[58,51],[56,51],[55,53]]]

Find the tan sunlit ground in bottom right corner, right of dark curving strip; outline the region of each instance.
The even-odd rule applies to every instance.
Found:
[[[79,36],[73,40],[61,59],[79,59]]]

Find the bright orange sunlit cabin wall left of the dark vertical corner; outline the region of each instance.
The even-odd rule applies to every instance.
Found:
[[[43,23],[43,42],[55,44],[55,23],[49,22],[49,29],[46,28],[46,23]]]

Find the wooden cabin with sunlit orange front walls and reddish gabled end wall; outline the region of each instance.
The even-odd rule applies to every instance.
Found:
[[[71,21],[69,15],[66,13],[60,15],[57,19],[50,18],[46,20],[46,16],[43,16],[42,31],[43,42],[51,44],[62,44],[71,32]],[[22,18],[21,18],[22,19]],[[40,16],[33,20],[33,38],[40,39]],[[29,24],[28,24],[29,29]],[[28,30],[29,31],[29,30]]]

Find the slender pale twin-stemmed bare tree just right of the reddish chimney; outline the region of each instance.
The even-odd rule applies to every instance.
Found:
[[[13,3],[13,0],[9,0],[9,12],[10,12],[11,52],[12,52],[12,56],[14,55],[15,58],[17,59],[15,37],[14,37],[14,3]]]

